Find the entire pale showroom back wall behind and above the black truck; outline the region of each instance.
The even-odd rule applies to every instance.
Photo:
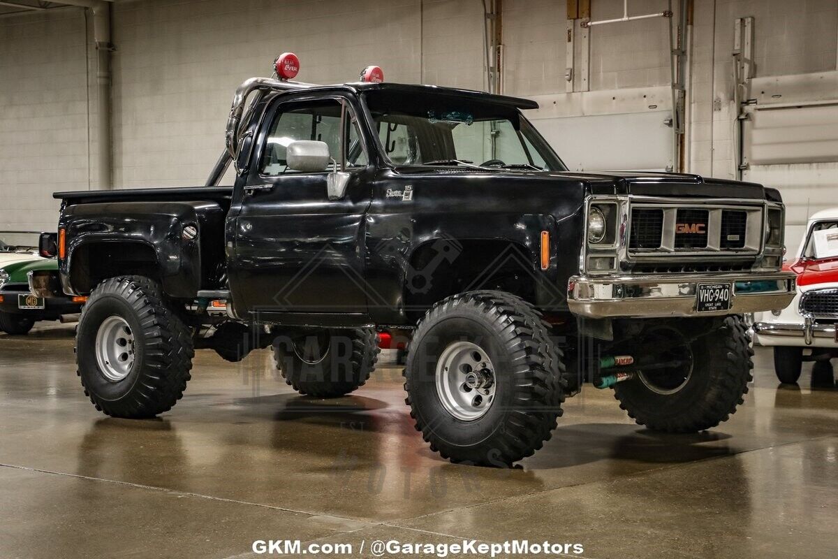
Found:
[[[572,21],[569,57],[566,0],[502,5],[502,91],[541,103],[531,116],[570,168],[673,164],[665,123],[671,114],[670,19],[587,29]],[[591,0],[590,6],[594,20],[623,13],[622,0]],[[665,0],[629,0],[632,14],[666,8]],[[793,91],[804,79],[799,75],[815,76],[827,84],[817,99],[794,101],[828,104],[830,95],[832,101],[838,96],[829,86],[838,75],[838,2],[694,0],[692,13],[685,170],[747,179],[750,171],[739,169],[737,134],[746,144],[752,134],[737,132],[733,98],[737,18],[753,17],[753,80]],[[235,86],[270,74],[283,50],[300,56],[299,77],[306,81],[355,80],[374,63],[389,81],[487,87],[480,0],[126,0],[113,3],[111,21],[117,189],[203,184],[223,145]],[[51,192],[96,188],[96,137],[88,132],[95,131],[89,127],[96,119],[95,89],[86,87],[95,73],[95,61],[91,68],[85,56],[90,36],[82,8],[0,18],[0,230],[53,229]],[[772,95],[791,95],[769,93],[774,101],[779,98]],[[830,153],[838,161],[838,148],[830,152],[829,138],[824,141],[817,176],[827,183],[835,169]],[[794,165],[807,164],[771,162],[766,166],[781,165],[782,172],[761,176],[785,177],[798,188],[795,177],[811,171]],[[823,202],[799,207],[805,214]]]

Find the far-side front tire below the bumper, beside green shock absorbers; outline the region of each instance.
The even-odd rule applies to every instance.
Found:
[[[688,324],[647,330],[641,346],[657,350],[666,367],[639,372],[614,386],[620,407],[639,425],[665,432],[699,432],[727,421],[753,379],[750,338],[738,316],[696,336]]]

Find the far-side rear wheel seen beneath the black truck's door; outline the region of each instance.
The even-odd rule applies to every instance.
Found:
[[[318,329],[273,341],[277,369],[288,385],[308,396],[333,398],[364,386],[380,352],[373,329]]]

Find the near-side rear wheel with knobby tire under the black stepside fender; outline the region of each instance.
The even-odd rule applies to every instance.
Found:
[[[189,329],[146,277],[101,282],[81,310],[78,375],[96,409],[153,417],[183,396],[194,350]]]

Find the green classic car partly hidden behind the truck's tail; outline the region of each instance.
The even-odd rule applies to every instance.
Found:
[[[29,284],[34,273],[40,278],[38,293]],[[54,258],[0,241],[0,330],[6,334],[28,334],[39,320],[58,320],[61,315],[80,313],[83,299],[61,292],[58,261]]]

